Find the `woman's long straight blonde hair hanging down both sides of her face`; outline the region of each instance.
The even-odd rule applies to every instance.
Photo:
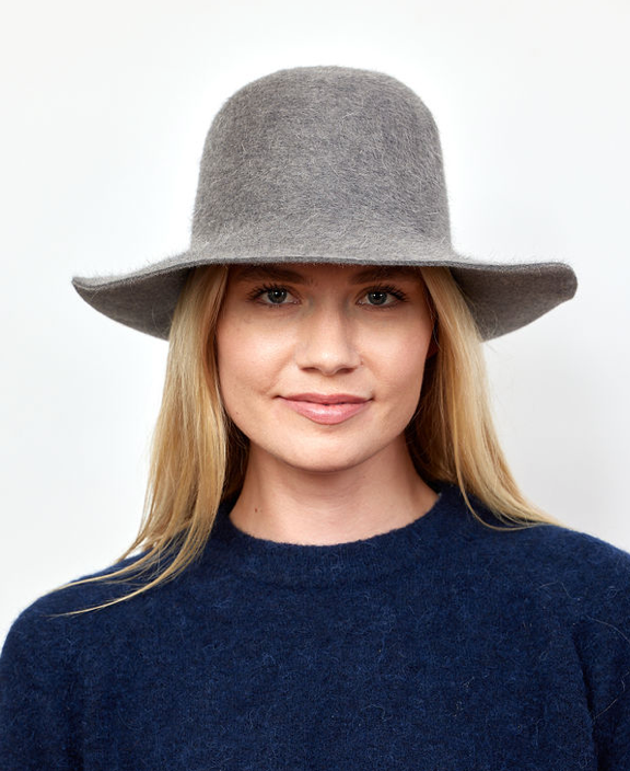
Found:
[[[485,527],[504,529],[477,515],[470,494],[513,527],[562,525],[522,495],[508,468],[488,403],[482,341],[450,269],[421,267],[419,274],[438,349],[427,360],[418,411],[406,429],[418,473],[428,483],[456,484]],[[143,552],[119,569],[66,586],[125,580],[130,573],[149,577],[122,597],[74,613],[121,602],[178,575],[203,550],[220,504],[242,486],[248,441],[223,408],[214,337],[228,275],[226,265],[194,268],[175,309],[142,522],[116,564]]]

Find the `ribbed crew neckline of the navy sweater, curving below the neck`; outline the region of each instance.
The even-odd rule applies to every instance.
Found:
[[[235,498],[223,503],[208,542],[214,568],[228,568],[252,580],[285,586],[343,584],[372,579],[430,554],[442,538],[454,536],[457,520],[465,519],[459,488],[434,483],[439,494],[433,506],[402,527],[366,539],[337,544],[298,544],[258,538],[230,519]],[[464,511],[462,508],[464,507]]]

